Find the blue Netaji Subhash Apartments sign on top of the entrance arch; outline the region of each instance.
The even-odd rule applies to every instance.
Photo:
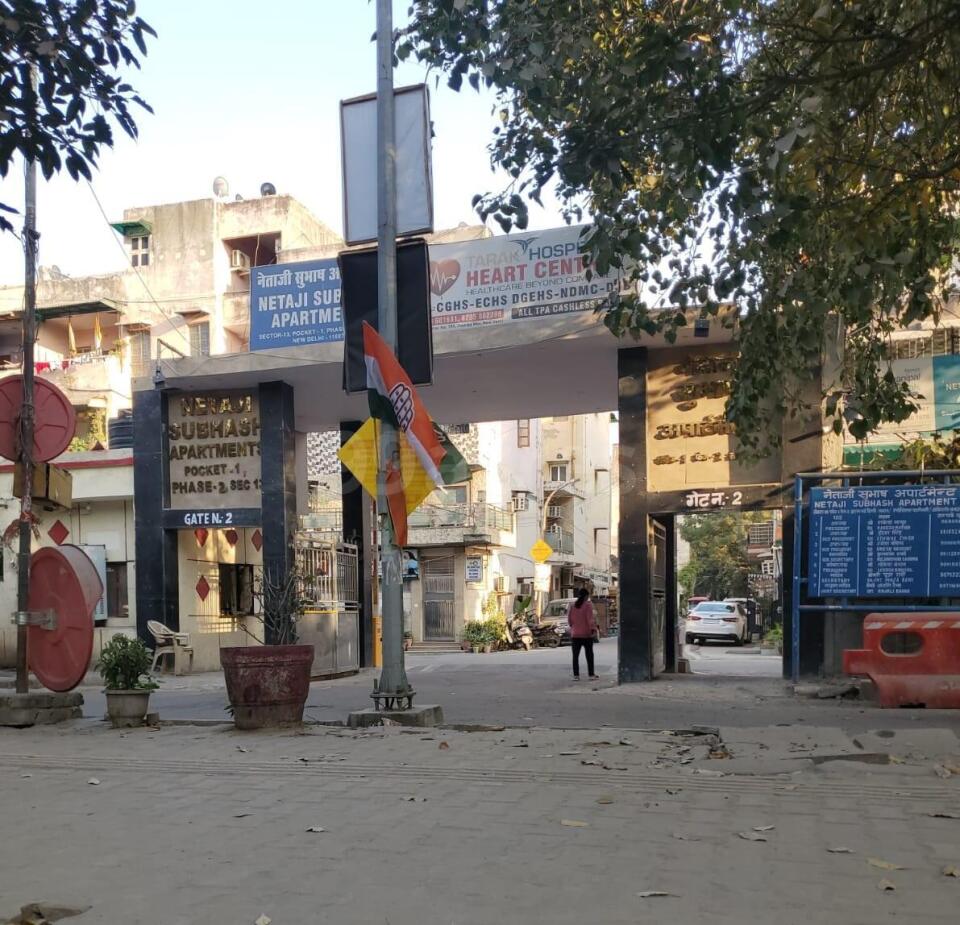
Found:
[[[343,340],[340,267],[307,260],[250,271],[250,349]]]

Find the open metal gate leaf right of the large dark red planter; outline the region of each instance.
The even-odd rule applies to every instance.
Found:
[[[307,602],[299,642],[314,647],[314,677],[360,668],[357,547],[311,531],[297,534],[297,570]]]

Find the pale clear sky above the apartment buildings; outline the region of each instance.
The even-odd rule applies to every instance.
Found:
[[[395,25],[408,0],[394,4]],[[111,221],[124,208],[213,195],[223,176],[229,198],[259,194],[269,181],[342,231],[339,102],[376,89],[374,6],[368,0],[140,0],[138,13],[157,31],[142,70],[130,82],[154,109],[137,117],[140,137],[117,128],[93,187]],[[436,131],[435,227],[479,221],[474,193],[505,185],[494,175],[492,96],[406,62],[396,86],[427,81]],[[22,207],[23,172],[0,181],[0,201]],[[562,224],[559,210],[531,206],[530,227]],[[14,217],[15,225],[22,222]],[[64,173],[40,182],[40,264],[71,276],[122,269],[126,257],[86,182]],[[496,227],[494,226],[496,231]],[[0,284],[22,280],[20,244],[0,235]]]

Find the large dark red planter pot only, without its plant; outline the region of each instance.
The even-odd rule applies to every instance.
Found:
[[[237,729],[303,721],[313,646],[231,646],[220,650]]]

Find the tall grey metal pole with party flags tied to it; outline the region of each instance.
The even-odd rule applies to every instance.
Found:
[[[392,0],[377,0],[377,322],[380,336],[397,352],[397,149],[394,136]],[[403,659],[403,573],[387,504],[387,466],[399,466],[397,431],[380,427],[377,512],[380,519],[383,669],[373,692],[378,706],[411,704],[413,689]]]

